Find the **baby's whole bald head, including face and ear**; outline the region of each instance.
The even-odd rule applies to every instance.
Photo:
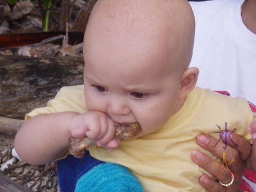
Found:
[[[88,109],[138,122],[140,136],[160,129],[195,87],[194,33],[187,0],[98,0],[83,41]]]

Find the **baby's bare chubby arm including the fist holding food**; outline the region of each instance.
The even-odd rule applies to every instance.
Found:
[[[114,148],[115,123],[102,112],[41,114],[29,119],[17,132],[14,147],[25,162],[45,164],[67,152],[70,138],[89,137],[98,146]]]

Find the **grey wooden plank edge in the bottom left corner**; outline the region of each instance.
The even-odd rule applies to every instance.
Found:
[[[31,189],[20,185],[10,178],[8,178],[3,172],[0,172],[0,191],[2,192],[32,192]]]

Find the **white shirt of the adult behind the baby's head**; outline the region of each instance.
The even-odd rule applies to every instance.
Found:
[[[243,24],[243,2],[190,2],[196,18],[190,67],[200,70],[197,86],[228,91],[232,97],[240,96],[255,104],[256,34]]]

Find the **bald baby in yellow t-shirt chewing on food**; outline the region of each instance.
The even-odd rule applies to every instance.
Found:
[[[196,136],[218,139],[213,132],[227,126],[250,140],[255,115],[242,98],[195,87],[194,33],[186,0],[99,0],[84,34],[84,86],[62,88],[26,115],[14,143],[20,158],[46,163],[67,153],[70,138],[89,137],[93,157],[130,168],[146,191],[204,191],[190,158]],[[115,122],[141,130],[119,145]]]

